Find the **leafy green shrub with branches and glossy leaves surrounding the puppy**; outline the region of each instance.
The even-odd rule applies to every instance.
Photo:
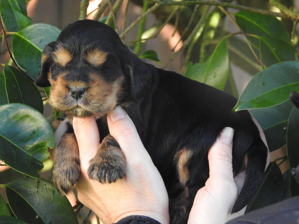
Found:
[[[99,223],[76,192],[61,197],[49,181],[63,115],[49,108],[49,88],[34,84],[43,47],[86,18],[112,26],[145,62],[251,110],[272,162],[246,211],[299,195],[299,111],[289,100],[299,92],[298,9],[296,0],[0,0],[0,223]]]

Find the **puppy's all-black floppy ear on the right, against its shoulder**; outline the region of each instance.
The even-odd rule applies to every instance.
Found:
[[[131,53],[130,59],[128,72],[131,79],[131,93],[133,98],[138,100],[144,97],[149,90],[152,74],[138,56]]]

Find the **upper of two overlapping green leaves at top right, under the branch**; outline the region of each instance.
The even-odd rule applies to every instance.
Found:
[[[241,11],[235,14],[235,18],[245,33],[251,33],[257,36],[270,36],[291,44],[286,28],[273,16]],[[250,37],[248,37],[248,39],[258,47],[259,43],[257,40]]]

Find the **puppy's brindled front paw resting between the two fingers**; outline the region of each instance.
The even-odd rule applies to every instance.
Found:
[[[89,178],[101,183],[115,182],[125,174],[125,156],[111,135],[103,139],[96,156],[89,164]]]

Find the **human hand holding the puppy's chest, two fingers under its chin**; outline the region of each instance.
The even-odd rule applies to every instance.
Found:
[[[169,223],[168,195],[157,168],[145,150],[129,116],[118,107],[108,113],[110,134],[126,157],[126,173],[111,184],[89,179],[89,160],[99,146],[99,132],[93,118],[74,118],[73,127],[79,145],[80,179],[78,199],[103,223],[115,223],[129,215],[151,217]]]

